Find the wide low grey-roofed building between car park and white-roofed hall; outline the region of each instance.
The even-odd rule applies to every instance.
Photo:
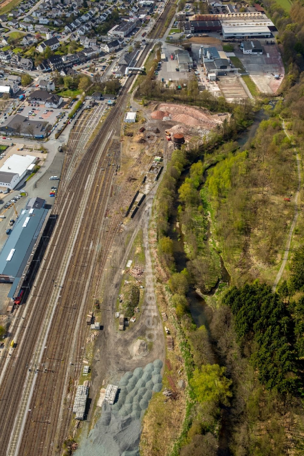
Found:
[[[31,136],[39,139],[44,138],[50,128],[46,121],[29,120],[21,114],[15,114],[0,125],[0,132],[4,135]]]

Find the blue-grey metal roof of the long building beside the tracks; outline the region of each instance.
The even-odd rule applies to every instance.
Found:
[[[44,207],[34,209],[31,214],[29,210],[21,212],[1,250],[0,274],[19,278],[18,280],[20,280],[47,212],[48,209]],[[14,250],[14,254],[8,260],[12,250]]]

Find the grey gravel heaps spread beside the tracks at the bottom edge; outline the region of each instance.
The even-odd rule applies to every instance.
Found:
[[[139,456],[142,417],[152,392],[162,389],[162,361],[126,372],[114,405],[103,403],[95,427],[81,441],[76,456]]]

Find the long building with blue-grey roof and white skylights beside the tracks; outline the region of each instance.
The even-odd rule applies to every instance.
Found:
[[[38,246],[49,210],[45,200],[31,198],[21,211],[19,218],[0,252],[0,282],[10,282],[8,297],[13,298],[26,279],[33,250]]]

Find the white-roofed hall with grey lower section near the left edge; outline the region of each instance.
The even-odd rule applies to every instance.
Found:
[[[32,155],[11,155],[0,168],[0,187],[13,190],[36,161]]]

